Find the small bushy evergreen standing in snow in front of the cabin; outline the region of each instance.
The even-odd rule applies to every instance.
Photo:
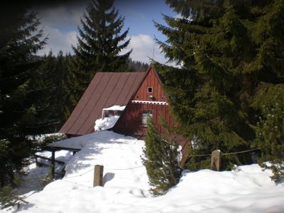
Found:
[[[153,187],[151,192],[154,195],[165,194],[180,180],[178,143],[165,121],[162,121],[162,126],[166,130],[163,136],[158,133],[153,120],[148,119],[143,149],[143,165],[146,167],[150,185]]]

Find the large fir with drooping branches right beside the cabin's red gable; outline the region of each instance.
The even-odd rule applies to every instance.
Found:
[[[230,1],[168,1],[182,18],[164,16],[155,23],[168,40],[158,41],[169,61],[179,68],[156,65],[165,79],[170,107],[184,136],[195,138],[192,154],[249,149],[254,138],[248,124],[243,75],[253,59],[254,44],[241,6]],[[226,4],[225,4],[226,3]],[[243,90],[245,87],[249,89]],[[242,100],[240,101],[240,99]],[[250,163],[249,154],[226,155],[223,169]],[[209,160],[191,158],[191,169],[208,168]]]

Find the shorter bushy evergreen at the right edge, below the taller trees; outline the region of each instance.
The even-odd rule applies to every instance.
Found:
[[[270,93],[274,95],[269,95]],[[263,168],[273,170],[272,180],[284,177],[284,85],[269,87],[266,95],[271,98],[260,106],[261,116],[256,128],[256,142],[261,148],[259,162]],[[263,99],[263,94],[261,97]],[[265,163],[265,162],[269,163]]]

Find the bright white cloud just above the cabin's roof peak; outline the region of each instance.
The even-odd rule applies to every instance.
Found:
[[[150,58],[157,60],[158,62],[165,63],[166,59],[160,53],[160,48],[155,40],[150,35],[139,34],[131,36],[131,40],[126,49],[122,51],[122,54],[133,49],[130,57],[133,60],[141,62],[150,62]]]

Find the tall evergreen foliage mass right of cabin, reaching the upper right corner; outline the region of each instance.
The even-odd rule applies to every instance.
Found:
[[[195,138],[190,153],[248,150],[256,138],[261,84],[283,84],[284,1],[166,2],[182,18],[155,23],[168,38],[158,43],[178,67],[155,67],[180,132]],[[250,153],[226,155],[222,168],[244,163],[251,163]],[[187,166],[208,168],[209,160],[190,158]]]

